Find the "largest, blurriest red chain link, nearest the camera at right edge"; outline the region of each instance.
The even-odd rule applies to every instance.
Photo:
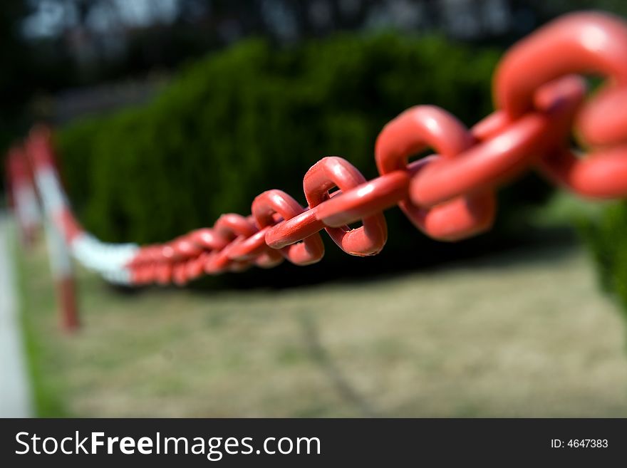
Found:
[[[531,73],[530,73],[531,72]],[[534,108],[545,83],[568,73],[608,78],[601,93],[581,105],[576,135],[589,154],[580,159],[558,145],[544,154],[542,168],[578,194],[594,198],[627,195],[627,28],[600,13],[565,16],[514,46],[499,66],[494,92],[510,118]]]

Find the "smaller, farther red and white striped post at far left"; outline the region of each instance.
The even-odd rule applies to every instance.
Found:
[[[22,244],[30,246],[41,221],[33,175],[26,153],[14,146],[6,158],[6,192],[14,212]]]

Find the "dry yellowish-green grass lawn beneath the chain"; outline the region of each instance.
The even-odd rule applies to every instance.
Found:
[[[43,416],[627,417],[623,321],[572,246],[283,291],[124,295],[81,272],[74,336],[43,246],[19,263]]]

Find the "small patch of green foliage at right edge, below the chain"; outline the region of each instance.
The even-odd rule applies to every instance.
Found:
[[[596,217],[579,219],[579,228],[601,288],[616,298],[627,317],[627,202],[609,204]]]

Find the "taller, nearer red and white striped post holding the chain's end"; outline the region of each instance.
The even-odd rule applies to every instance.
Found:
[[[31,158],[35,182],[44,212],[46,244],[58,304],[61,309],[61,326],[66,331],[78,328],[78,307],[71,253],[68,246],[78,234],[78,226],[58,182],[51,135],[47,128],[35,128],[26,140],[26,150]]]

